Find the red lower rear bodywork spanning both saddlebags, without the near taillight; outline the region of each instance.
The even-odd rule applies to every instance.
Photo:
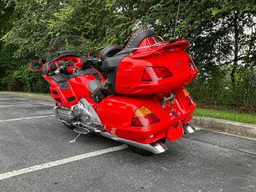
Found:
[[[165,137],[175,141],[182,137],[182,124],[190,121],[196,103],[188,105],[183,87],[174,90],[174,93],[175,102],[167,101],[165,107],[162,106],[163,95],[155,97],[110,95],[99,103],[98,115],[106,131],[118,137],[140,143],[151,143]],[[132,126],[134,111],[142,106],[153,111],[160,122],[146,127]]]

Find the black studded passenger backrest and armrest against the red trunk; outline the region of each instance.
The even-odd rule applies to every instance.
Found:
[[[150,36],[155,36],[155,32],[150,28],[143,28],[137,30],[132,37],[129,39],[128,43],[122,50],[119,45],[110,45],[103,49],[100,53],[102,60],[102,70],[108,72],[108,89],[110,93],[116,93],[116,73],[118,66],[120,65],[121,60],[130,54],[130,51],[127,49],[134,49],[139,46],[141,41]],[[131,50],[134,52],[135,50]]]

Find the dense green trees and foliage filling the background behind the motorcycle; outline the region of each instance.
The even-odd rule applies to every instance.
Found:
[[[189,38],[199,75],[189,85],[199,105],[255,109],[256,5],[249,0],[6,0],[0,2],[0,88],[47,92],[28,61],[46,59],[62,35],[84,36],[90,49],[124,46],[141,27],[164,39]],[[23,70],[23,71],[22,71]],[[22,73],[23,72],[23,73]]]

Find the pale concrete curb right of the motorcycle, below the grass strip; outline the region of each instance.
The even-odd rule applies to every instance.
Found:
[[[223,119],[194,116],[190,123],[201,129],[219,131],[242,137],[256,138],[256,125]]]

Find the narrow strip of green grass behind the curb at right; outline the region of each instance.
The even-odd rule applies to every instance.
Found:
[[[197,108],[195,116],[226,119],[229,121],[256,124],[256,114],[238,113],[229,110]]]

